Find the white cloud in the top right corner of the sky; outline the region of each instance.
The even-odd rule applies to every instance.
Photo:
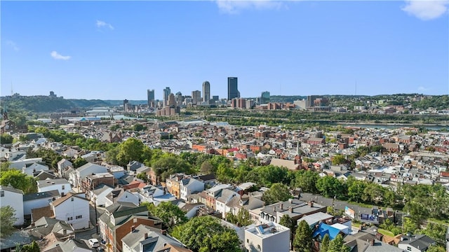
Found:
[[[409,15],[421,20],[432,20],[448,12],[449,0],[406,0],[402,8]]]

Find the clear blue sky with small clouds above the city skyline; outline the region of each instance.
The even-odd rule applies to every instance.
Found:
[[[1,95],[449,93],[449,1],[1,1]],[[357,87],[356,87],[357,86]]]

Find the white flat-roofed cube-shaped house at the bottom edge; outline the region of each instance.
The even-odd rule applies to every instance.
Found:
[[[248,225],[245,230],[245,248],[249,252],[289,252],[290,229],[274,222]]]

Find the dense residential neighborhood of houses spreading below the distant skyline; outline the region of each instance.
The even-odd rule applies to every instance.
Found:
[[[340,235],[347,251],[426,251],[443,244],[427,235],[386,235],[379,230],[384,223],[405,227],[408,218],[413,218],[410,210],[385,207],[385,192],[399,192],[404,186],[439,186],[445,203],[449,202],[446,132],[357,126],[286,130],[267,125],[236,127],[206,120],[119,120],[85,126],[66,122],[58,127],[65,134],[101,141],[101,136],[115,134],[111,125],[126,128],[137,124],[146,130],[119,130],[120,143],[138,141],[152,150],[154,157],[178,157],[172,162],[180,162],[182,157],[190,162],[187,168],[171,169],[156,159],[128,160],[120,166],[110,161],[110,151],[68,146],[43,134],[33,140],[4,144],[2,162],[10,170],[34,177],[36,191],[26,193],[11,184],[1,186],[1,207],[14,209],[13,225],[20,227],[13,235],[1,238],[2,251],[14,249],[22,242],[21,237],[27,237],[28,243],[36,241],[41,251],[72,251],[67,246],[70,243],[79,251],[97,249],[89,239],[98,239],[105,251],[148,251],[150,247],[153,250],[149,251],[196,251],[171,232],[173,227],[180,228],[187,225],[182,223],[201,216],[236,230],[243,251],[294,251],[293,237],[298,236],[298,231],[292,228],[299,229],[302,222],[311,232],[310,251],[320,251],[325,235],[330,241]],[[166,134],[173,137],[165,139]],[[13,133],[15,138],[20,135]],[[42,149],[59,157],[54,167],[46,163],[45,157],[27,157]],[[194,157],[207,158],[199,169],[194,169]],[[230,168],[214,167],[213,157],[229,163]],[[83,162],[75,167],[75,161],[80,159]],[[250,169],[259,171],[280,169],[284,174],[293,174],[293,181],[286,187],[288,197],[278,200],[267,196],[277,183],[274,181],[284,178],[264,183],[260,177],[264,172],[256,174],[253,181],[248,172],[243,180],[226,175],[226,169],[238,169],[242,164],[252,164],[250,167],[255,167]],[[361,190],[362,195],[349,196],[348,200],[338,194],[326,195],[327,191],[300,187],[302,184],[295,183],[294,177],[301,172],[310,172],[316,179],[335,179],[342,185],[366,183],[361,185],[373,186],[374,195]],[[376,190],[380,194],[375,195]],[[155,209],[167,202],[183,213],[185,221],[176,221],[173,216],[163,221],[166,217]],[[368,207],[357,202],[379,205]],[[398,200],[391,202],[392,206],[401,204]],[[447,210],[446,205],[441,216],[447,216]],[[249,224],[234,222],[239,218]],[[293,225],[286,225],[284,219]]]

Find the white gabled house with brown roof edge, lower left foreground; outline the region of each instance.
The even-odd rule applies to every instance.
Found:
[[[72,193],[51,202],[55,219],[67,221],[75,230],[89,228],[89,201]]]

